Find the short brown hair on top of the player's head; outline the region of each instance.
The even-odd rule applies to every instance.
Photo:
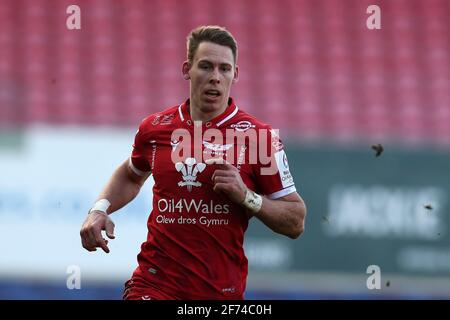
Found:
[[[190,65],[192,65],[194,55],[202,42],[212,42],[229,47],[233,52],[233,59],[236,64],[238,49],[233,35],[223,27],[200,26],[192,30],[187,37],[187,59]]]

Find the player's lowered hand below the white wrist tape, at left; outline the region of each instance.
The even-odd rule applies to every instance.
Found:
[[[81,227],[80,236],[83,248],[97,251],[97,247],[109,253],[108,240],[102,236],[102,230],[110,239],[114,239],[114,222],[103,211],[94,210],[86,218]]]

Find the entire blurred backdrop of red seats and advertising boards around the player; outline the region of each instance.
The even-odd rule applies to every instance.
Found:
[[[449,14],[448,0],[0,0],[0,298],[121,298],[151,179],[113,215],[110,254],[82,249],[81,224],[140,121],[188,97],[187,34],[217,24],[239,45],[232,96],[280,129],[308,206],[295,241],[252,220],[246,297],[449,299]]]

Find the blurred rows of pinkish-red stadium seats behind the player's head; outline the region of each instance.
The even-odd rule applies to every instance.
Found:
[[[68,1],[0,3],[0,125],[135,126],[182,101],[185,36],[229,28],[239,105],[293,138],[450,144],[450,2]],[[301,128],[301,130],[299,130]]]

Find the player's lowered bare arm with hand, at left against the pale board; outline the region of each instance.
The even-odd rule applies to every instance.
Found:
[[[81,227],[81,242],[86,250],[96,251],[99,247],[109,253],[108,240],[102,237],[102,230],[105,230],[108,238],[114,239],[114,223],[108,215],[133,200],[149,176],[150,172],[137,174],[133,171],[129,160],[114,171],[97,199],[107,199],[111,205],[106,212],[91,210]]]

